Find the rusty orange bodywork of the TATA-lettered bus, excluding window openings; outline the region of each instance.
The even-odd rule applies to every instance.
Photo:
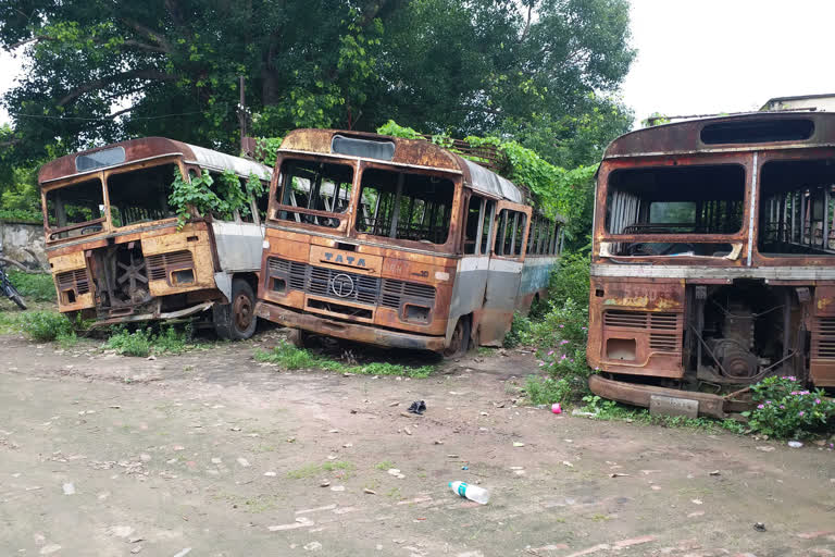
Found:
[[[354,149],[358,143],[341,149],[338,141],[345,138],[366,141],[367,153],[362,146]],[[513,184],[454,153],[423,140],[299,129],[284,139],[276,169],[283,169],[284,161],[350,165],[353,177],[347,209],[336,213],[279,203],[286,196],[276,170],[257,307],[264,319],[363,343],[440,351],[449,346],[462,319],[473,339],[482,344],[500,341],[514,309],[526,310],[544,287],[537,274],[536,278],[532,275],[527,289],[520,288],[524,249],[514,258],[491,252],[463,255],[462,226],[471,193],[496,202],[495,215],[509,208],[526,215],[529,223],[532,209],[522,205],[524,194]],[[446,240],[397,238],[397,224],[386,236],[359,230],[359,214],[371,210],[360,199],[363,176],[378,171],[428,176],[432,183],[452,182]],[[301,194],[309,196],[312,189],[304,186]],[[327,195],[335,199],[334,194]],[[406,205],[400,207],[402,211]],[[308,216],[278,218],[290,213]],[[332,219],[332,225],[325,227],[319,219]],[[489,228],[494,235],[486,244],[490,248],[494,228]],[[481,223],[478,231],[481,234]],[[519,239],[524,247],[527,224]]]

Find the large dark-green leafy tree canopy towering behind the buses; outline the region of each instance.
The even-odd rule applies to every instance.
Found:
[[[234,151],[244,75],[261,136],[394,117],[590,163],[623,126],[600,99],[628,40],[626,0],[0,0],[0,47],[26,57],[0,146],[33,161],[164,135]]]

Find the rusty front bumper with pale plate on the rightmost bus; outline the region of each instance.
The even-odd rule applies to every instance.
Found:
[[[695,391],[680,391],[677,388],[657,387],[655,385],[639,385],[614,381],[600,375],[588,377],[588,388],[602,398],[618,400],[633,406],[649,408],[653,396],[662,396],[683,400],[696,400],[699,403],[699,416],[710,416],[720,420],[728,417],[731,412],[741,412],[750,409],[750,400],[737,400],[710,393]]]

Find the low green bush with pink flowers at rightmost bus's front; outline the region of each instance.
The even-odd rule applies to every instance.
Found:
[[[781,438],[802,438],[835,422],[835,400],[807,391],[792,375],[765,377],[751,387],[757,408],[743,412],[751,430]]]

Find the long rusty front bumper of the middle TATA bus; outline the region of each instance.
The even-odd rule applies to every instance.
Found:
[[[358,343],[386,346],[390,348],[411,348],[439,352],[445,348],[443,336],[424,336],[412,333],[399,333],[371,325],[346,323],[311,313],[299,313],[275,304],[259,301],[256,305],[256,315],[273,323],[294,329],[302,329],[312,333],[356,341]]]

